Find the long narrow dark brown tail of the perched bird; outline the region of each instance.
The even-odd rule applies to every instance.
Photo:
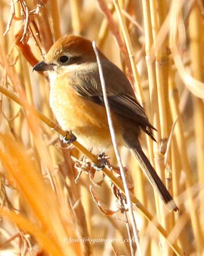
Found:
[[[136,143],[134,141],[134,147],[132,147],[131,145],[132,141],[131,143],[128,143],[128,141],[126,141],[126,143],[128,144],[128,147],[133,153],[133,155],[135,155],[136,159],[138,160],[139,165],[142,168],[142,171],[145,173],[146,177],[149,179],[150,184],[152,184],[153,188],[156,189],[164,204],[168,207],[168,209],[177,211],[178,207],[175,204],[174,199],[172,198],[166,186],[163,184],[163,182],[157,175],[156,171],[150,164],[146,155],[143,153],[139,140],[137,140]]]

